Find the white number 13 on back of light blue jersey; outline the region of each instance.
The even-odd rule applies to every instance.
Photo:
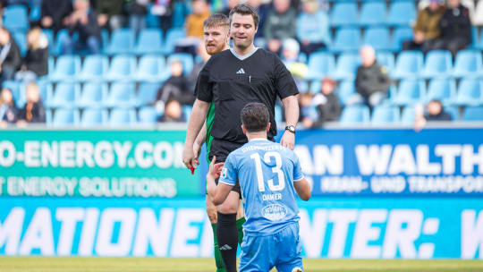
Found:
[[[282,171],[282,157],[280,157],[280,154],[277,152],[267,152],[265,153],[265,156],[263,157],[263,160],[269,164],[271,161],[271,157],[275,158],[275,166],[272,167],[272,172],[277,174],[278,176],[278,184],[274,184],[273,179],[269,179],[267,181],[268,183],[268,188],[270,188],[271,191],[281,191],[284,190],[285,188],[285,175],[284,172]],[[255,160],[255,167],[257,170],[257,179],[258,179],[258,191],[265,191],[265,182],[263,180],[263,172],[262,172],[262,166],[261,166],[261,159],[258,153],[253,153],[250,158]]]

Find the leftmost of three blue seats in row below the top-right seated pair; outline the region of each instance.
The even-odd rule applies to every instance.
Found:
[[[391,76],[394,79],[418,77],[423,67],[423,55],[419,51],[403,51],[396,58],[394,72]]]

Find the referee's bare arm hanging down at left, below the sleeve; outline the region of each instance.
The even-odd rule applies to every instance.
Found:
[[[184,140],[184,149],[182,151],[182,163],[188,169],[196,168],[195,155],[193,152],[193,143],[198,136],[199,130],[208,114],[209,103],[196,99],[191,111],[190,120],[188,121],[188,129],[186,131],[186,139]]]

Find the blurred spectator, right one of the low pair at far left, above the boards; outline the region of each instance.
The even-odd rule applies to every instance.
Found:
[[[42,104],[40,98],[40,92],[38,86],[34,82],[30,82],[25,88],[25,96],[27,103],[21,109],[18,124],[24,125],[25,123],[46,123],[46,109]]]

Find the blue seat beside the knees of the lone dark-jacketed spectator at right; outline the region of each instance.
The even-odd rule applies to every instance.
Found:
[[[425,100],[426,85],[424,81],[402,80],[393,103],[397,105],[413,105]]]

